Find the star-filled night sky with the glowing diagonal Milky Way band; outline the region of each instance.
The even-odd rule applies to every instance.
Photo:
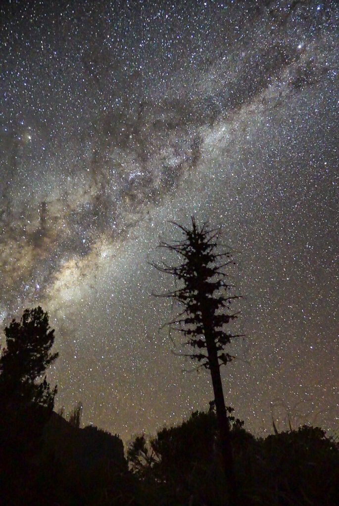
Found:
[[[208,408],[149,265],[194,215],[243,296],[226,404],[337,430],[337,3],[1,5],[0,318],[48,310],[56,409],[127,441]]]

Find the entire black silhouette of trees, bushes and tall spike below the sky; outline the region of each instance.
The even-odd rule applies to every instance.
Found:
[[[191,357],[210,369],[213,387],[219,382],[209,411],[196,411],[155,437],[137,436],[125,457],[118,435],[81,428],[81,404],[68,420],[53,411],[56,387],[51,389],[46,370],[58,355],[51,352],[54,330],[41,307],[27,309],[20,322],[12,320],[5,328],[7,347],[0,358],[0,504],[339,504],[339,446],[322,429],[304,425],[279,434],[274,426],[274,435],[255,438],[235,418],[234,409],[224,405],[220,375],[216,380],[213,374],[232,359],[223,349],[234,336],[223,332],[223,325],[236,317],[226,312],[236,297],[222,293],[230,286],[215,266],[222,257],[214,252],[214,232],[197,227],[194,220],[193,230],[180,228],[185,240],[163,246],[179,252],[185,262],[161,270],[184,283],[167,294],[184,306],[172,324],[201,352]],[[229,261],[231,257],[225,265]],[[225,477],[230,462],[232,472]],[[230,494],[234,483],[236,495]]]

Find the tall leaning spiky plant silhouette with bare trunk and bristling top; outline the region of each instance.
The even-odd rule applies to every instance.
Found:
[[[225,353],[224,348],[232,338],[239,337],[239,334],[232,335],[224,331],[224,325],[238,315],[228,312],[232,301],[239,299],[239,296],[229,293],[232,286],[227,284],[227,274],[224,272],[224,267],[234,262],[230,252],[217,253],[217,231],[209,230],[206,223],[199,227],[193,217],[192,229],[171,223],[181,229],[184,239],[177,244],[161,242],[160,247],[180,255],[183,262],[178,266],[168,266],[165,263],[152,265],[182,283],[181,287],[162,294],[161,297],[172,298],[183,307],[178,319],[168,324],[175,325],[172,328],[189,339],[185,344],[194,348],[194,353],[185,356],[201,362],[202,366],[210,370],[223,468],[231,494],[235,493],[234,466],[220,365],[227,364],[234,358]]]

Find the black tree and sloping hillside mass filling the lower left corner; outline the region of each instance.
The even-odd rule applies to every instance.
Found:
[[[0,358],[0,504],[104,506],[136,504],[118,436],[80,429],[81,406],[70,423],[53,411],[44,373],[57,358],[54,330],[41,307],[26,309],[5,328]],[[42,378],[43,376],[43,378]]]

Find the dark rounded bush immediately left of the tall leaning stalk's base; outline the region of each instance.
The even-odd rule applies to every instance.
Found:
[[[243,421],[232,415],[230,421],[232,433],[245,433]],[[136,437],[127,458],[144,488],[155,488],[163,497],[159,504],[221,505],[225,487],[218,437],[215,412],[196,411],[181,425],[165,427],[148,441],[144,435]]]

